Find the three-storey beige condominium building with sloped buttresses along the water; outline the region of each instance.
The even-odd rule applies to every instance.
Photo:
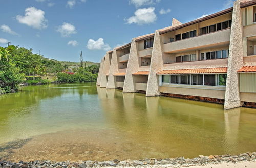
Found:
[[[155,33],[108,51],[97,85],[223,103],[225,109],[256,107],[256,1]]]

